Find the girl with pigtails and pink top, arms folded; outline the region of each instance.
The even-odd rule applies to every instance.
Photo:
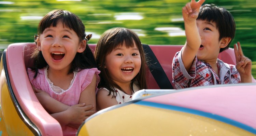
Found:
[[[85,38],[81,19],[63,10],[46,14],[38,34],[29,79],[42,106],[59,121],[63,135],[75,135],[86,116],[96,111],[100,71],[87,45],[90,37]],[[51,97],[43,97],[45,92]]]

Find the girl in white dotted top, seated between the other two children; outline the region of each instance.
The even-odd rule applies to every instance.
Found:
[[[101,110],[132,99],[134,92],[146,89],[146,62],[141,41],[126,28],[107,30],[95,50],[101,78],[96,94]]]

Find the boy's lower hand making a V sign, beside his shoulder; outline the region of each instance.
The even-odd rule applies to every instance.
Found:
[[[240,74],[242,83],[252,82],[252,61],[244,56],[240,42],[234,44],[234,53],[236,56],[236,68]]]

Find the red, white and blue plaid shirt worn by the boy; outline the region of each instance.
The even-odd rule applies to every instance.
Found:
[[[219,59],[217,59],[219,76],[209,63],[197,60],[197,57],[195,57],[190,71],[187,72],[182,62],[181,51],[175,54],[172,62],[172,78],[175,89],[241,82],[236,66],[224,63]]]

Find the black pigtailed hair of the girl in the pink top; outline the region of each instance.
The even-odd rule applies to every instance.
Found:
[[[39,40],[40,34],[43,33],[43,31],[46,28],[49,28],[51,26],[56,27],[58,22],[62,22],[63,26],[69,27],[71,30],[74,30],[77,36],[79,37],[79,42],[81,43],[83,40],[85,40],[85,26],[82,22],[82,20],[76,16],[75,14],[65,11],[65,10],[53,10],[46,14],[43,19],[40,21],[38,25],[38,35],[35,37],[35,43]],[[82,53],[77,52],[73,61],[71,62],[71,69],[69,70],[69,73],[73,71],[78,71],[78,68],[80,69],[87,69],[87,68],[96,68],[97,64],[93,55],[93,52],[91,52],[91,49],[89,48],[87,42],[86,42],[85,51]],[[37,49],[34,50],[34,52],[31,55],[31,58],[34,58],[33,67],[32,70],[35,70],[34,78],[37,77],[38,69],[41,69],[48,64],[46,63],[42,51],[38,51]]]

